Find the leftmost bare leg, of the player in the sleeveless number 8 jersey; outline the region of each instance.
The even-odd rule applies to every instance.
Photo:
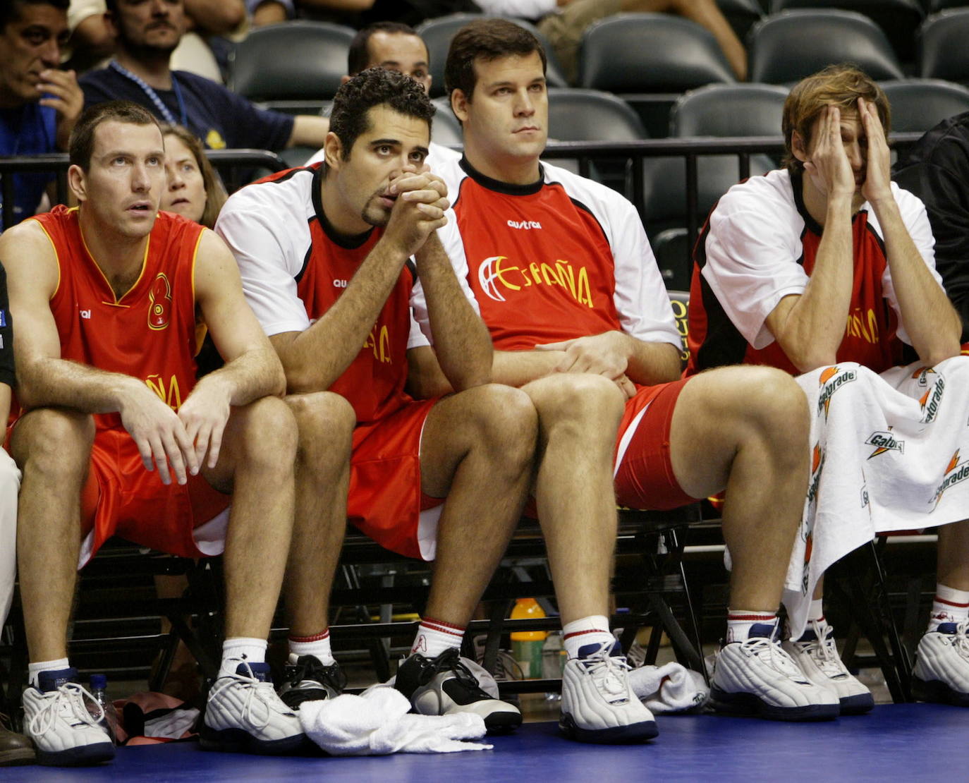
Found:
[[[80,489],[94,422],[40,408],[17,423],[11,444],[23,472],[17,512],[20,600],[31,661],[67,657],[67,625],[80,551]]]

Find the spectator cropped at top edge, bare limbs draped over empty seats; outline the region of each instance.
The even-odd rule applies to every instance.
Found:
[[[747,78],[747,52],[715,0],[477,0],[486,14],[534,19],[569,82],[578,79],[578,45],[592,22],[613,14],[683,16],[713,33],[736,78]]]

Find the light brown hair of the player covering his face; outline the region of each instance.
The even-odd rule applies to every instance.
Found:
[[[842,110],[858,110],[858,99],[863,98],[875,105],[882,120],[885,136],[891,131],[891,107],[885,91],[863,71],[851,63],[829,65],[813,76],[802,78],[791,90],[784,102],[781,130],[784,133],[784,165],[797,172],[804,168],[794,155],[794,133],[804,140],[805,148],[811,145],[811,132],[815,120],[828,106]]]

